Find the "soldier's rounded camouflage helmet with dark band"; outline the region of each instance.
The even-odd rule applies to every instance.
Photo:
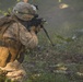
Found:
[[[25,2],[19,2],[13,8],[13,14],[23,21],[29,21],[36,14],[36,11],[33,9],[32,4]]]

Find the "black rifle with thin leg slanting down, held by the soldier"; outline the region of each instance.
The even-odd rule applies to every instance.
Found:
[[[32,19],[28,23],[27,23],[27,27],[28,27],[28,31],[31,31],[31,26],[35,26],[35,27],[38,27],[40,26],[40,28],[44,30],[44,32],[46,33],[46,36],[48,37],[49,42],[51,43],[51,45],[54,46],[54,43],[51,42],[49,35],[48,35],[48,32],[46,31],[46,28],[44,27],[44,24],[46,23],[47,21],[43,17],[38,17],[38,15],[36,15],[34,19]],[[35,32],[37,34],[37,32]]]

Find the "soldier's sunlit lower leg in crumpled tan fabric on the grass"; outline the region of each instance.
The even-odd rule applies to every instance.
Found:
[[[11,62],[11,65],[8,63],[7,66],[9,68],[7,69],[7,67],[5,67],[4,68],[5,70],[11,69],[7,73],[7,78],[11,79],[12,81],[23,82],[26,73],[25,73],[25,70],[22,67],[22,65],[17,60],[15,60],[14,62]]]

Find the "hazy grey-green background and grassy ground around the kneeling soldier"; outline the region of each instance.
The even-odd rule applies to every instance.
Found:
[[[83,82],[83,0],[31,0],[37,4],[39,16],[48,24],[38,33],[39,45],[27,50],[23,66],[25,82]],[[1,12],[12,8],[16,0],[0,0]]]

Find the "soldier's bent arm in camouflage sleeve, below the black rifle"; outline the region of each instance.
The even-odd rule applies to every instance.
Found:
[[[20,26],[20,40],[27,48],[34,48],[38,44],[38,38],[35,32],[33,30],[28,32],[24,26]]]

